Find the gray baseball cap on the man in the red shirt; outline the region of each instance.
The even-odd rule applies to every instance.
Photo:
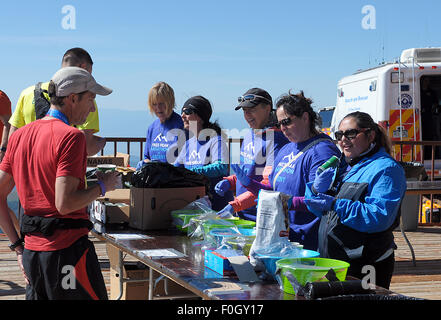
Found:
[[[101,96],[112,93],[112,89],[98,84],[87,70],[79,67],[61,68],[52,76],[51,81],[55,84],[55,95],[57,97],[67,97],[72,93],[85,91]]]

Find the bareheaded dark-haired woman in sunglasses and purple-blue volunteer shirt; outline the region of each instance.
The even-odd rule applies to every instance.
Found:
[[[312,100],[303,91],[288,93],[276,102],[278,125],[290,141],[274,159],[273,170],[265,181],[255,181],[238,165],[231,165],[242,185],[258,194],[260,189],[291,195],[289,206],[289,239],[300,242],[305,249],[317,250],[319,218],[303,203],[306,184],[314,181],[319,166],[340,151],[326,134],[316,129],[317,115]]]

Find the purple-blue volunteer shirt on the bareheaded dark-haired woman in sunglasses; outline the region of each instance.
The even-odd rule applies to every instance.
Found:
[[[311,142],[325,139],[297,155]],[[319,134],[300,143],[288,143],[277,154],[269,181],[273,190],[291,196],[305,195],[306,184],[314,181],[317,168],[330,157],[340,157],[340,150],[325,134]],[[291,164],[287,165],[290,160]],[[283,169],[286,166],[285,169]],[[281,171],[283,169],[283,171]],[[279,174],[280,172],[280,174]],[[311,212],[289,211],[291,241],[300,242],[305,249],[317,250],[320,219]]]

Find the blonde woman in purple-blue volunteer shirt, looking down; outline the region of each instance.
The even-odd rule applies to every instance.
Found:
[[[150,89],[148,106],[157,119],[147,129],[144,160],[138,162],[136,169],[149,161],[173,163],[178,156],[179,130],[184,128],[181,117],[173,111],[175,94],[167,83],[158,82]]]

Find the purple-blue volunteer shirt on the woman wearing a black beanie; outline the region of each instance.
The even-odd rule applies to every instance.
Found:
[[[205,174],[210,180],[210,200],[212,209],[219,211],[223,209],[228,201],[233,200],[233,193],[228,191],[220,197],[215,191],[214,186],[227,175],[228,171],[228,145],[221,136],[211,137],[209,140],[200,141],[192,137],[186,141],[185,147],[179,153],[175,166],[185,167],[186,169],[205,174],[203,170],[197,170],[211,166],[210,174]],[[215,172],[215,174],[213,174]]]

